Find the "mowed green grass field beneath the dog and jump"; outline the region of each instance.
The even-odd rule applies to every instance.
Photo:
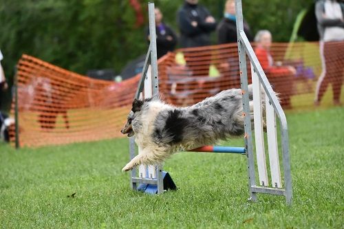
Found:
[[[0,144],[1,228],[343,228],[344,108],[287,117],[292,207],[272,195],[248,201],[244,155],[173,155],[164,170],[178,190],[145,195],[120,171],[127,139],[19,151]]]

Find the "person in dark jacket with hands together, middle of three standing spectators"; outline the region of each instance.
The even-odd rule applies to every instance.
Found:
[[[210,34],[216,22],[210,12],[198,4],[198,0],[186,0],[178,10],[181,47],[211,45]]]

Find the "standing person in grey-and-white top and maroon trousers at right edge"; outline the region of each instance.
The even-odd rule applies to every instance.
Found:
[[[320,105],[329,83],[332,85],[334,105],[341,105],[344,69],[344,3],[336,0],[317,1],[315,15],[320,36],[323,71],[316,83],[314,105]]]

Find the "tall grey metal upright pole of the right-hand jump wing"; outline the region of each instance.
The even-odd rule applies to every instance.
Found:
[[[244,44],[241,43],[240,32],[244,31],[243,15],[241,0],[235,0],[235,14],[237,23],[237,44],[239,53],[239,67],[240,67],[240,80],[242,90],[242,101],[244,109],[244,128],[245,128],[245,147],[248,157],[248,189],[250,191],[250,199],[257,201],[257,193],[252,191],[252,186],[255,186],[255,159],[253,157],[252,146],[252,129],[250,120],[250,105],[248,98],[248,79],[247,79],[247,65],[246,65],[246,52]]]

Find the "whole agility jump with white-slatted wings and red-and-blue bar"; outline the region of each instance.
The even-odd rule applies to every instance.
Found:
[[[250,199],[257,201],[257,193],[268,193],[272,195],[283,195],[286,203],[292,204],[292,182],[290,175],[290,156],[288,144],[288,127],[286,116],[279,104],[279,100],[272,90],[266,75],[264,74],[257,57],[244,33],[241,0],[235,1],[237,16],[237,37],[239,66],[241,79],[241,94],[244,116],[244,141],[245,147],[226,147],[226,146],[203,146],[192,151],[217,152],[217,153],[244,153],[248,157],[248,188]],[[149,32],[151,36],[149,50],[144,62],[142,77],[136,91],[136,99],[147,99],[158,95],[158,65],[156,58],[156,36],[154,21],[154,4],[149,3]],[[255,181],[255,156],[252,145],[251,128],[251,109],[248,95],[248,77],[246,69],[246,55],[250,59],[252,69],[252,97],[255,125],[255,154],[257,157],[257,168],[259,184]],[[150,67],[149,67],[150,66]],[[265,91],[264,95],[261,90]],[[266,109],[263,109],[262,101],[265,101]],[[271,182],[268,179],[266,168],[266,153],[264,146],[264,120],[263,112],[266,112],[266,129],[268,140],[268,157],[270,164]],[[281,149],[283,156],[283,175],[282,182],[279,153],[277,144],[277,124],[276,115],[281,129]],[[136,155],[134,137],[129,139],[130,159]],[[140,149],[139,149],[140,153]],[[140,184],[138,186],[138,184]],[[162,171],[161,165],[143,166],[140,165],[137,175],[136,168],[131,171],[131,186],[134,190],[144,190],[146,193],[163,193],[166,189],[174,189],[175,185],[168,173]],[[284,188],[283,188],[284,186]]]

